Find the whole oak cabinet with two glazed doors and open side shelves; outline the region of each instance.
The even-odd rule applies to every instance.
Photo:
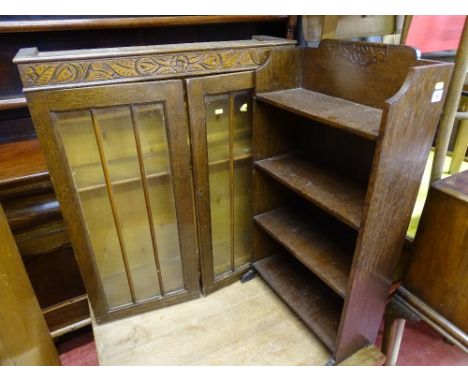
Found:
[[[375,341],[451,65],[294,44],[18,53],[98,322],[253,266],[334,361]]]

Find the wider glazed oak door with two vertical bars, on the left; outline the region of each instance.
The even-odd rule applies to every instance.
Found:
[[[28,101],[98,322],[198,296],[183,82]]]

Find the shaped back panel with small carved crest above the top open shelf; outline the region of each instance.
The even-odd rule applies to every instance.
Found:
[[[411,47],[323,40],[302,50],[302,87],[376,108],[398,92],[416,65]]]

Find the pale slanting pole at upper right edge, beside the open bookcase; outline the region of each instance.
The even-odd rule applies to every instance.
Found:
[[[445,156],[452,133],[455,116],[457,114],[458,103],[460,102],[463,83],[465,81],[466,69],[468,67],[468,19],[465,17],[465,25],[458,45],[453,68],[452,79],[448,87],[447,98],[440,119],[437,133],[434,163],[432,165],[431,182],[442,177]]]

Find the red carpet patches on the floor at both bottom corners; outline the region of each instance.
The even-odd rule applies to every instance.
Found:
[[[380,346],[381,334],[377,339]],[[96,345],[91,327],[60,338],[57,343],[64,366],[98,365]],[[398,357],[401,366],[468,366],[468,354],[444,341],[442,336],[424,322],[406,323]]]

